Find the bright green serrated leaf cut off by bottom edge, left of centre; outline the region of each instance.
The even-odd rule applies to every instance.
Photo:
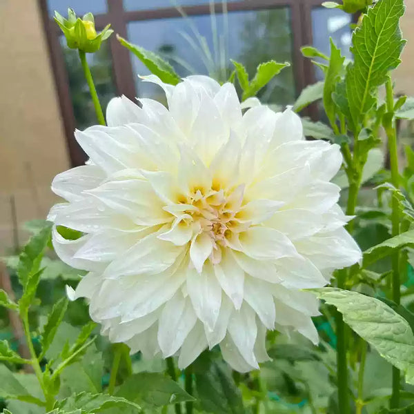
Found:
[[[119,408],[120,413],[122,408],[128,407],[136,408],[137,412],[141,411],[141,407],[135,402],[108,394],[79,393],[66,398],[58,404],[58,408],[63,411],[74,411],[80,408],[82,414],[100,413],[112,407]]]

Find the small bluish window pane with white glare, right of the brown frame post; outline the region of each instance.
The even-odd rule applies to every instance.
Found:
[[[325,55],[331,55],[329,37],[342,50],[342,55],[351,59],[352,31],[351,15],[339,9],[314,8],[312,10],[313,46]],[[320,59],[316,59],[321,61]],[[324,79],[322,70],[316,70],[317,80]]]

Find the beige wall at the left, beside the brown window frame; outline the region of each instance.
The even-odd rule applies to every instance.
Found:
[[[68,166],[37,1],[0,0],[0,255],[13,245],[10,198],[19,223],[45,217]]]

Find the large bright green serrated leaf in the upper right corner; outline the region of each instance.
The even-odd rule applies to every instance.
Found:
[[[376,89],[388,72],[400,64],[404,46],[399,19],[404,0],[381,0],[362,19],[353,34],[354,63],[348,65],[345,81],[339,83],[335,103],[355,132],[376,102]],[[369,40],[367,40],[369,39]]]

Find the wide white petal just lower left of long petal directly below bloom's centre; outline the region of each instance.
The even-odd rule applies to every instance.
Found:
[[[197,315],[190,300],[176,293],[159,317],[158,343],[164,357],[170,357],[179,350],[196,322]]]

